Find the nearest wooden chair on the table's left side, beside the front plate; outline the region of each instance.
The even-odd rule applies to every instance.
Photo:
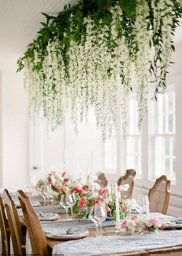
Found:
[[[29,197],[27,197],[27,195],[22,190],[18,190],[17,195],[25,218],[25,223],[32,248],[32,254],[48,255],[48,249],[42,225],[36,211],[31,204]]]

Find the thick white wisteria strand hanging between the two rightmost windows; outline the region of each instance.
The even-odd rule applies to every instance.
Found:
[[[136,93],[138,108],[138,127],[141,128],[144,113],[147,113],[147,94],[150,82],[150,40],[151,35],[147,30],[147,19],[149,16],[147,2],[140,0],[136,6],[135,41],[138,45],[138,52],[135,57]]]

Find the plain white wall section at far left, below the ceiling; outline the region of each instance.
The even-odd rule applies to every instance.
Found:
[[[1,53],[1,186],[22,188],[27,178],[27,94],[22,74],[16,73],[18,55]]]

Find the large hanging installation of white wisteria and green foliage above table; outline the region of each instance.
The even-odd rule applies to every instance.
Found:
[[[52,128],[61,125],[70,107],[75,132],[94,107],[102,137],[112,135],[121,109],[127,129],[127,97],[136,77],[138,126],[147,113],[149,82],[155,95],[166,90],[172,36],[179,25],[180,0],[83,0],[65,6],[47,23],[18,60],[25,71],[29,115],[39,113]]]

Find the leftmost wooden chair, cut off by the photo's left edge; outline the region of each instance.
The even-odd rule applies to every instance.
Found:
[[[8,222],[5,216],[5,206],[3,199],[0,195],[0,228],[1,228],[1,240],[2,240],[2,255],[9,255],[10,252],[10,233]]]

